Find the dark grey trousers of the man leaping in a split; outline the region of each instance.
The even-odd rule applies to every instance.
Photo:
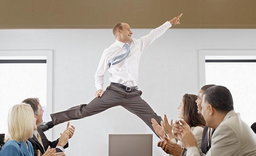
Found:
[[[104,91],[102,97],[95,97],[88,105],[74,106],[66,111],[53,113],[50,116],[52,117],[53,124],[57,125],[66,121],[88,117],[114,106],[122,106],[140,117],[155,133],[151,119],[156,119],[158,124],[160,124],[162,118],[152,110],[146,101],[141,99],[141,94],[140,90],[126,92],[125,89],[111,84]]]

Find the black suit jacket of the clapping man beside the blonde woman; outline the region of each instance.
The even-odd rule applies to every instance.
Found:
[[[45,148],[45,150],[47,150],[48,146],[50,146],[51,148],[55,148],[59,142],[59,139],[51,142],[47,139],[47,137],[45,136],[45,133],[43,133],[43,131],[41,130],[40,127],[38,127],[38,133],[41,137],[41,140],[43,142],[43,146]],[[33,135],[33,138],[29,138],[28,139],[33,148],[34,148],[34,155],[37,156],[38,155],[38,149],[41,152],[41,155],[43,155],[45,152],[43,150],[43,147],[41,146],[41,144],[39,143],[38,139],[36,138],[36,136]],[[68,147],[68,143],[64,146],[64,149]],[[56,148],[56,152],[62,152],[61,149]]]

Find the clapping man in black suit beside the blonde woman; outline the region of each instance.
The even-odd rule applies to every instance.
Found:
[[[55,148],[56,152],[64,152],[64,149],[68,147],[68,139],[72,138],[75,132],[75,127],[73,125],[70,127],[70,122],[68,122],[66,129],[61,134],[61,137],[51,142],[47,139],[40,126],[38,126],[43,122],[43,108],[39,103],[39,99],[28,98],[23,100],[22,103],[27,103],[32,107],[37,119],[36,125],[38,128],[34,131],[33,137],[29,138],[29,141],[34,148],[34,155],[38,155],[38,150],[41,152],[41,155],[44,154],[47,151],[48,146],[50,146],[50,148]]]

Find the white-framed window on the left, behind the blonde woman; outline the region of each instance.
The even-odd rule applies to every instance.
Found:
[[[6,125],[0,127],[0,133],[7,131],[10,108],[29,97],[39,98],[44,110],[43,121],[49,120],[52,111],[52,51],[0,51],[0,74],[0,122]]]

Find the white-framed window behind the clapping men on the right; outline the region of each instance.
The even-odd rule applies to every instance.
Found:
[[[199,61],[200,86],[227,87],[243,121],[256,122],[256,50],[200,50]]]

